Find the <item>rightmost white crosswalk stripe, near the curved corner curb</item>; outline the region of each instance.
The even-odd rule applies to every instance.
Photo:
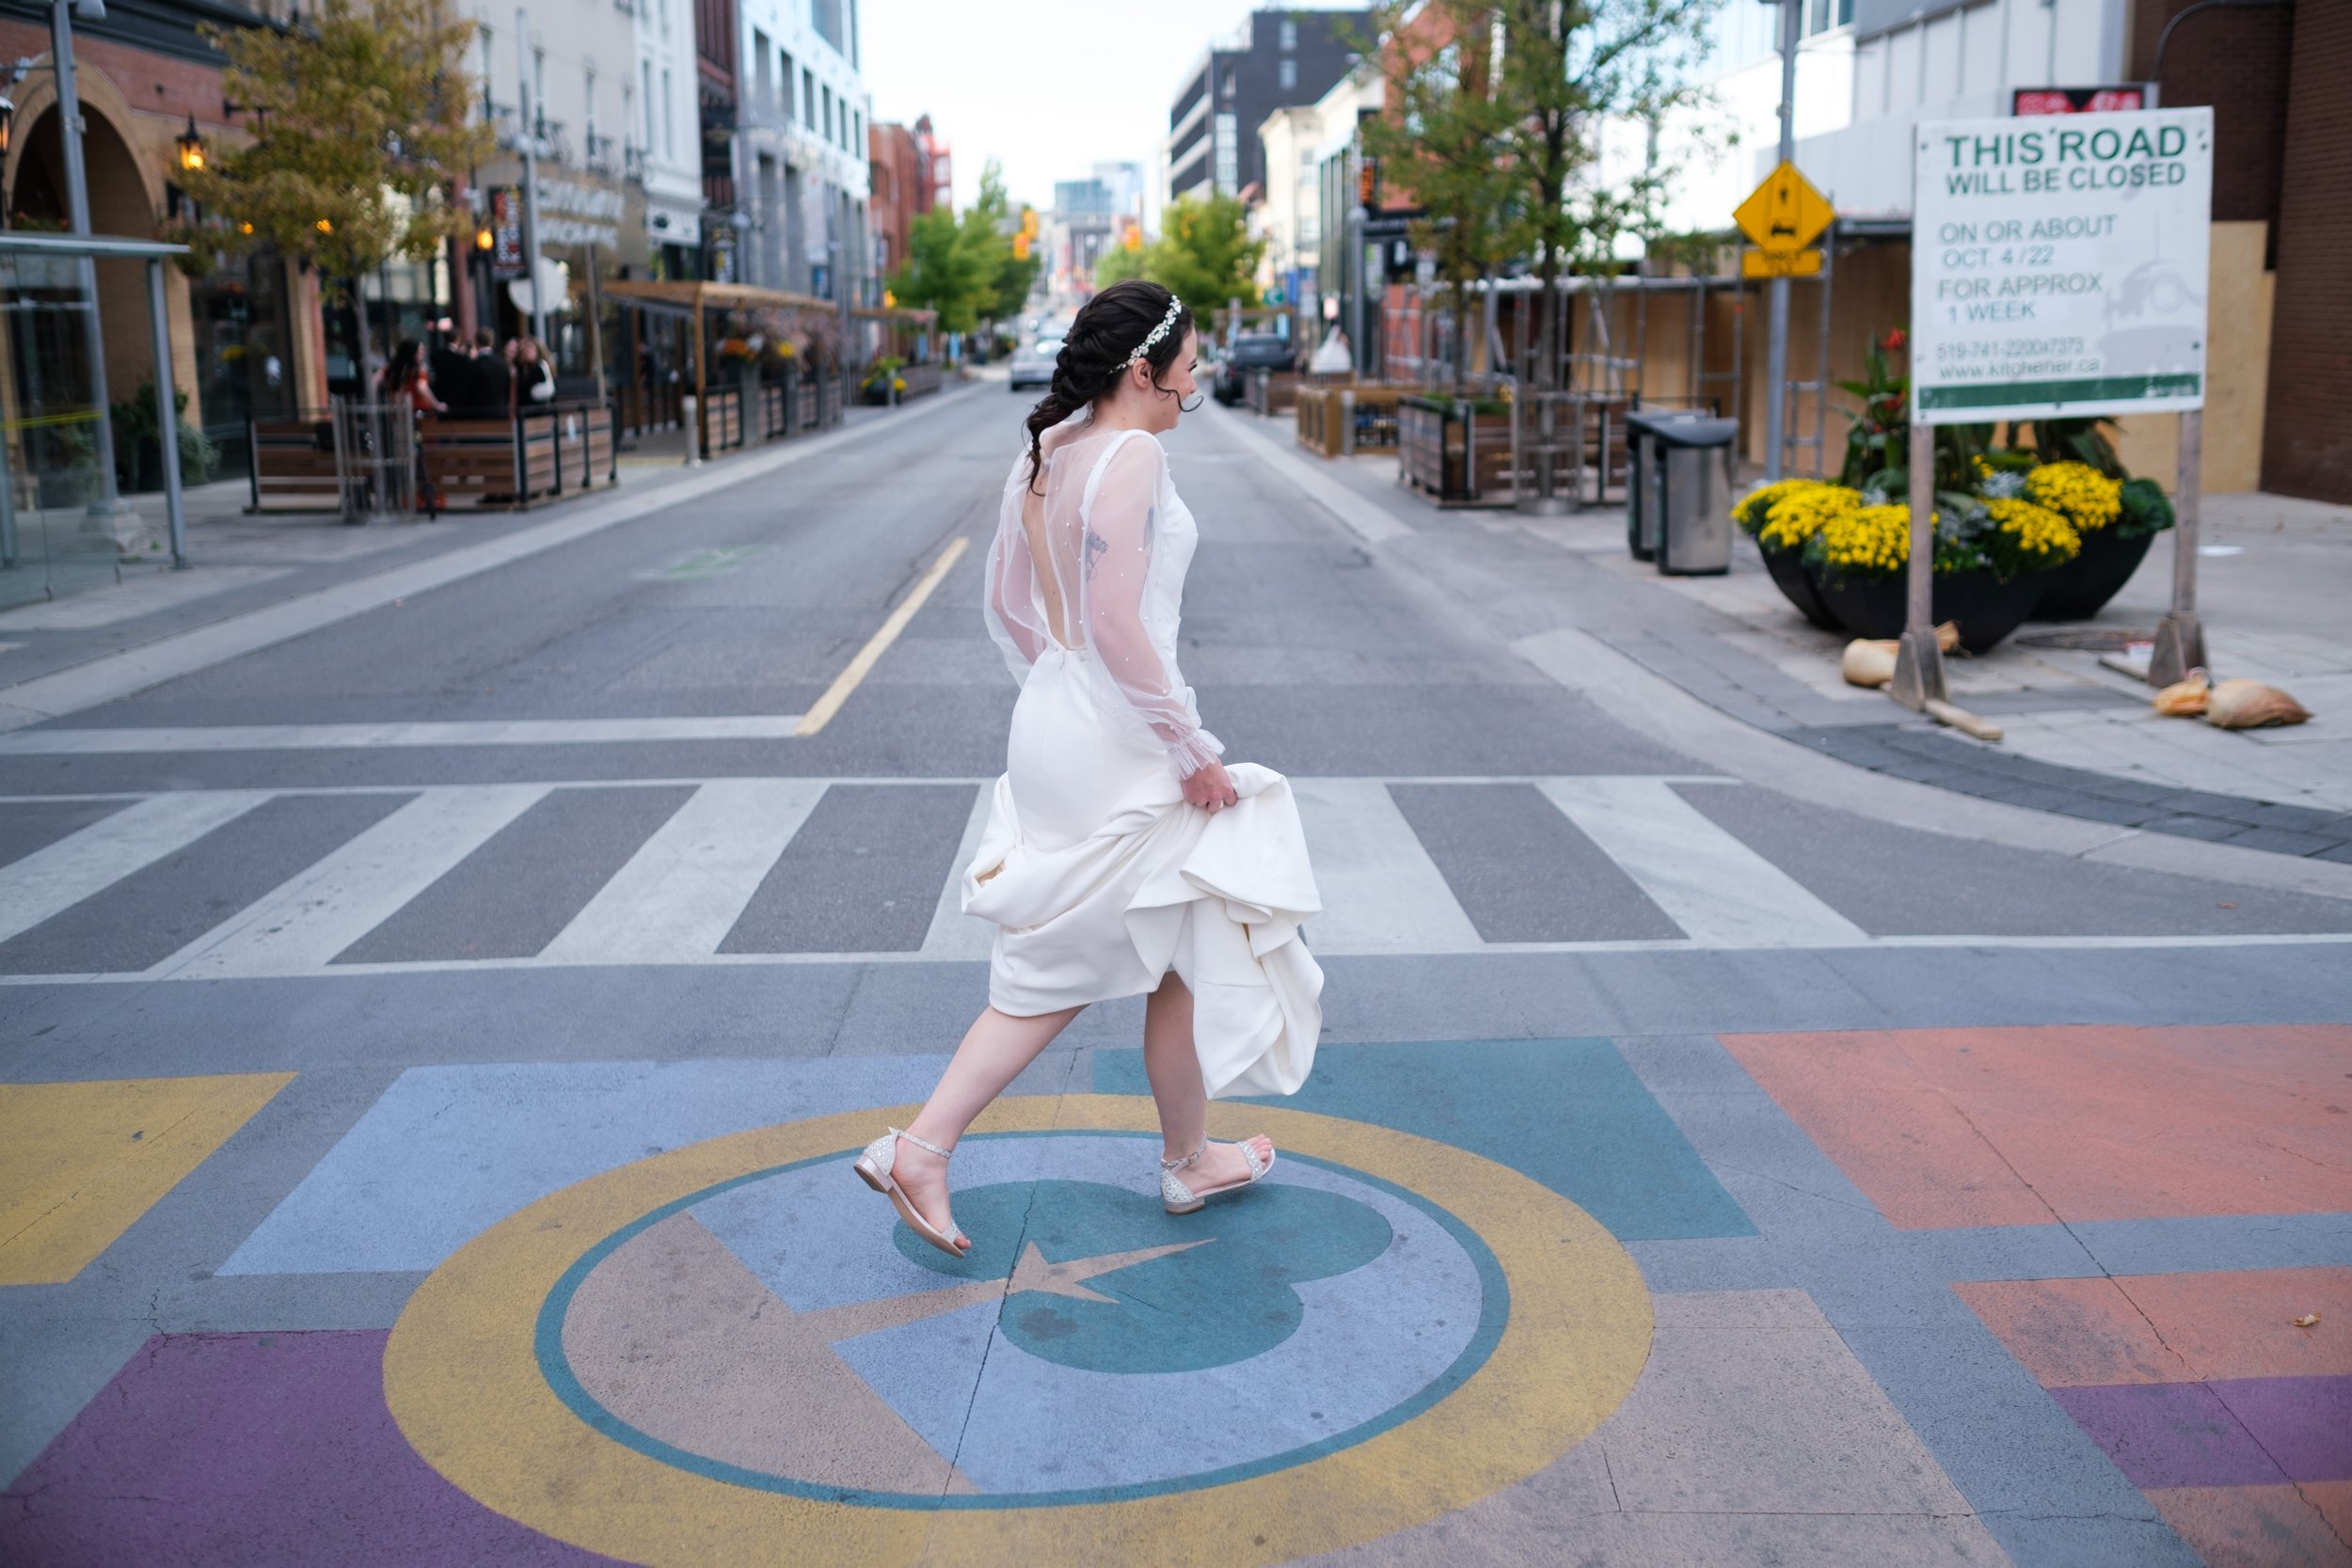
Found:
[[[1835,947],[1870,940],[1661,778],[1543,778],[1536,788],[1698,945]]]

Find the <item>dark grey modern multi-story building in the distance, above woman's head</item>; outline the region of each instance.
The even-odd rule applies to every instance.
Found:
[[[1263,186],[1258,127],[1287,103],[1312,103],[1338,82],[1369,33],[1369,12],[1251,12],[1183,75],[1162,153],[1164,197],[1240,195]]]

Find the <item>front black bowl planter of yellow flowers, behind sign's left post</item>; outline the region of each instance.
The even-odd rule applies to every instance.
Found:
[[[2082,548],[2074,527],[2032,501],[1945,491],[1936,510],[1931,621],[1955,621],[1959,644],[1985,654],[2018,630],[2049,571]],[[1898,637],[1905,611],[1910,508],[1863,505],[1832,517],[1806,545],[1820,602],[1856,637]]]

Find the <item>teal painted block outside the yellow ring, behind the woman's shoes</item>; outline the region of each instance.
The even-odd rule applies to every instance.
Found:
[[[1096,1093],[1150,1093],[1141,1051],[1096,1051]],[[1665,1107],[1606,1039],[1324,1046],[1289,1105],[1484,1154],[1609,1227],[1618,1241],[1752,1237]]]

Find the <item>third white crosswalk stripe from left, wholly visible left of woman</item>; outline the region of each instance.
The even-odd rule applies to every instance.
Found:
[[[548,964],[708,959],[809,820],[826,783],[713,778],[637,846],[539,957]]]

